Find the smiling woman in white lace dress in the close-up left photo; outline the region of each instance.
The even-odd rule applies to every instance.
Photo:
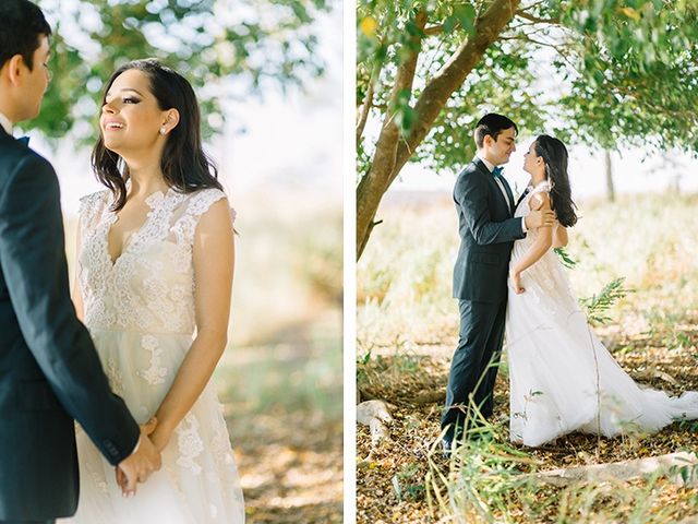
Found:
[[[136,497],[79,431],[71,523],[243,523],[242,491],[210,376],[226,346],[231,210],[202,151],[191,85],[155,60],[109,80],[93,152],[107,190],[81,200],[74,301],[112,390],[153,417],[163,467]],[[213,175],[212,175],[213,171]]]

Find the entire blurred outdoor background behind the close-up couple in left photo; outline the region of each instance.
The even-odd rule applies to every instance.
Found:
[[[194,85],[238,212],[214,376],[249,522],[340,522],[341,10],[325,0],[46,0],[52,82],[24,126],[58,171],[72,267],[104,82],[157,57]]]

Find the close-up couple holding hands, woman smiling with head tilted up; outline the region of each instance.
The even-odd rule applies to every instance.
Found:
[[[71,300],[56,174],[12,135],[39,112],[50,35],[34,3],[0,3],[0,523],[242,523],[208,383],[233,227],[196,97],[154,60],[107,82],[107,189],[81,200]]]

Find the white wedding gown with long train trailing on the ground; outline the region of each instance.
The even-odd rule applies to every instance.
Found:
[[[515,216],[530,212],[537,186]],[[510,266],[535,239],[517,240]],[[510,384],[513,442],[541,445],[579,430],[613,437],[634,430],[657,431],[678,418],[698,418],[698,392],[670,397],[638,386],[594,336],[569,285],[565,267],[551,249],[521,274],[525,293],[509,283],[506,348]]]

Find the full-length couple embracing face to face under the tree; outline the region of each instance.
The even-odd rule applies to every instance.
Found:
[[[483,434],[478,427],[493,415],[505,334],[515,443],[539,446],[571,431],[657,431],[698,418],[698,392],[670,397],[640,388],[592,333],[553,251],[567,245],[577,222],[567,148],[538,136],[525,154],[530,184],[515,199],[500,166],[516,151],[517,134],[502,115],[480,119],[477,156],[454,189],[460,329],[441,420],[445,454],[456,441]]]

